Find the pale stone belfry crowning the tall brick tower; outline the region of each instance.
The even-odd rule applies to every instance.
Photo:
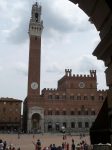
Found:
[[[43,21],[41,20],[41,6],[36,2],[32,6],[32,14],[29,24],[29,36],[41,37]]]

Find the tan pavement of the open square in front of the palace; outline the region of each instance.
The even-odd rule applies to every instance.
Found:
[[[0,134],[0,139],[3,141],[6,140],[8,145],[13,144],[16,148],[20,147],[21,150],[35,150],[33,143],[36,143],[38,139],[41,140],[42,148],[49,146],[50,144],[59,146],[65,141],[71,145],[72,139],[74,139],[75,144],[80,143],[82,140],[85,140],[88,144],[90,144],[89,136],[85,136],[81,139],[79,136],[67,136],[67,139],[63,140],[62,134],[20,134],[20,138],[18,138],[17,134]]]

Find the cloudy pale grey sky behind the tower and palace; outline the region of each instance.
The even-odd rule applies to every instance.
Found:
[[[0,97],[27,96],[28,27],[34,0],[0,1]],[[41,89],[57,88],[65,69],[97,71],[98,89],[107,89],[105,66],[92,55],[100,42],[89,17],[68,0],[39,0],[42,6]]]

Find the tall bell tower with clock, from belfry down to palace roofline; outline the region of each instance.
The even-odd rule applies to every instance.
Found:
[[[40,95],[40,66],[41,66],[41,6],[36,2],[32,6],[29,23],[29,69],[28,69],[28,96]]]

